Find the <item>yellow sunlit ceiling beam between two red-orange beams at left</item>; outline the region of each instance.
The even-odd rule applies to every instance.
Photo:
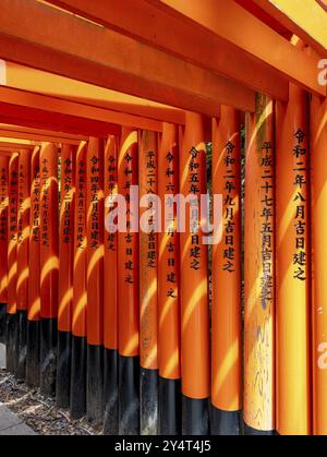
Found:
[[[0,61],[0,84],[51,97],[78,101],[141,118],[177,124],[185,123],[185,112],[155,101],[74,81],[13,62]]]

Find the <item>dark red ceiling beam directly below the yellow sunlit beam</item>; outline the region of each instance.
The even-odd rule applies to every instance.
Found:
[[[87,136],[117,135],[120,134],[121,125],[162,131],[162,123],[153,119],[2,86],[0,86],[0,122],[3,123]]]

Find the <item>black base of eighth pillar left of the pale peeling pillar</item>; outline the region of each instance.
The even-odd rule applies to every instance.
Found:
[[[86,337],[72,336],[71,418],[86,413]]]

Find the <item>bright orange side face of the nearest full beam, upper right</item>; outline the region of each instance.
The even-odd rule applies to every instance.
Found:
[[[278,33],[249,13],[233,0],[147,0],[158,9],[204,27],[257,61],[274,69],[276,74],[301,85],[314,94],[326,96],[318,82],[318,60],[305,55]],[[240,68],[240,72],[242,68]]]

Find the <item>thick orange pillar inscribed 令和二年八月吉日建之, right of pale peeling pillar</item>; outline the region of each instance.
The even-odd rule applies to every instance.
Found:
[[[276,104],[277,431],[310,434],[308,95],[290,84]]]

